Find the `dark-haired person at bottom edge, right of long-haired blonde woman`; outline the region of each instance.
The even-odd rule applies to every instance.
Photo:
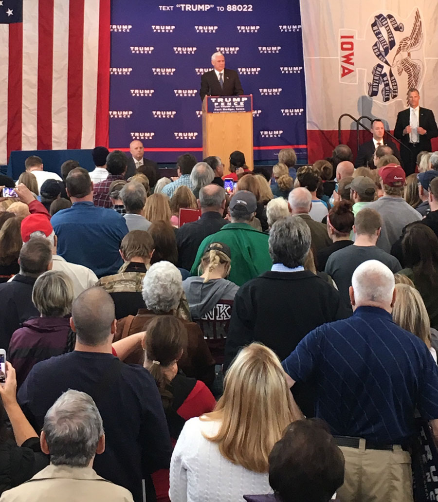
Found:
[[[344,482],[344,455],[325,422],[292,422],[269,454],[272,495],[243,495],[247,502],[329,502]]]

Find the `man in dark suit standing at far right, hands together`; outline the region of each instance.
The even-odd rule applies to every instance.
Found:
[[[432,110],[418,106],[420,94],[417,89],[409,89],[409,108],[400,111],[395,122],[394,136],[409,148],[400,150],[406,175],[415,171],[416,156],[421,150],[431,152],[431,138],[438,136]]]

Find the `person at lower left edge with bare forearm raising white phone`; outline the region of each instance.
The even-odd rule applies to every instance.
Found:
[[[0,350],[0,358],[2,352],[6,359],[4,349]],[[17,403],[15,369],[8,361],[5,361],[5,365],[6,382],[0,385],[3,403],[0,419],[0,494],[24,483],[49,464],[48,457],[41,451],[38,434]],[[5,365],[2,363],[2,368]],[[6,418],[11,422],[15,441],[7,431]]]

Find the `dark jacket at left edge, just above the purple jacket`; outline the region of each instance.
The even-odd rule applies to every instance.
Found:
[[[0,347],[8,349],[12,334],[24,321],[39,317],[32,303],[35,277],[17,274],[10,283],[0,284]]]

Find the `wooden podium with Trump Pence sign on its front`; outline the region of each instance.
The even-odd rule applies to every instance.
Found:
[[[205,96],[202,102],[203,157],[216,155],[229,171],[229,157],[239,150],[253,169],[252,94],[247,96]]]

